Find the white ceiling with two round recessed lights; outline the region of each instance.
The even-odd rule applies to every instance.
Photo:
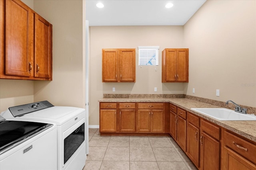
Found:
[[[104,8],[97,8],[101,2]],[[172,8],[165,8],[171,2]],[[89,26],[184,25],[206,0],[86,0]]]

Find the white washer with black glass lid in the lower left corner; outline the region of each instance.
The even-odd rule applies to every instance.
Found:
[[[57,126],[0,118],[0,170],[25,169],[57,169]]]

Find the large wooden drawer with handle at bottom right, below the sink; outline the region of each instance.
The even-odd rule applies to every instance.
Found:
[[[227,131],[223,134],[224,145],[256,163],[256,146]]]

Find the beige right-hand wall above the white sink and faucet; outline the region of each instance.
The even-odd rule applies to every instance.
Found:
[[[256,107],[255,0],[206,1],[184,25],[184,43],[190,64],[185,94]]]

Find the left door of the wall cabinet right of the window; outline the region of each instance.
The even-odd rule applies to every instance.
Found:
[[[176,81],[177,50],[165,49],[162,54],[162,82]]]

